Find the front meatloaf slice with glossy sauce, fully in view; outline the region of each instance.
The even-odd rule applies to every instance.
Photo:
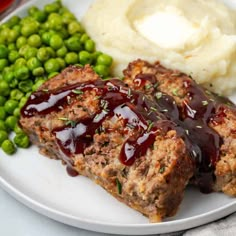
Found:
[[[121,80],[70,66],[30,96],[20,124],[43,155],[158,222],[181,203],[194,147],[156,107]]]

